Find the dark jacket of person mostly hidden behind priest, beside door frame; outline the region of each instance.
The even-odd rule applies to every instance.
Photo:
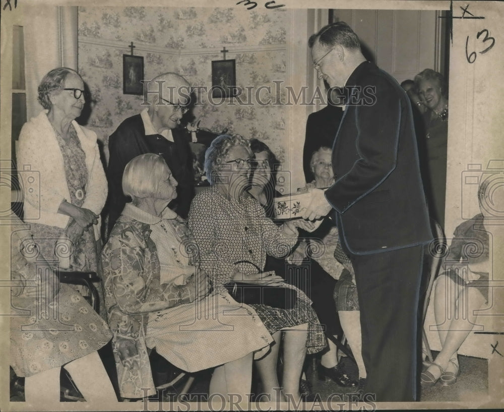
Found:
[[[331,105],[308,116],[303,148],[303,170],[306,183],[315,179],[310,168],[311,155],[323,146],[332,149],[342,117],[341,107]]]

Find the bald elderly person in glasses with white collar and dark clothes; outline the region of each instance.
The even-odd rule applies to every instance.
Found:
[[[156,153],[164,158],[178,182],[175,201],[176,212],[181,217],[187,217],[194,197],[189,139],[186,131],[177,128],[188,110],[190,85],[182,76],[165,73],[144,86],[144,110],[125,119],[108,140],[108,233],[128,201],[122,192],[122,173],[134,157]]]

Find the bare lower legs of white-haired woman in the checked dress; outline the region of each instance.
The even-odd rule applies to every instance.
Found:
[[[252,384],[252,359],[253,355],[250,353],[215,368],[210,380],[209,396],[218,394],[224,396],[226,402],[248,402]],[[227,395],[231,396],[228,398]]]

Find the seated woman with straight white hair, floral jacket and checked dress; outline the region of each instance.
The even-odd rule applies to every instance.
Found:
[[[105,304],[121,396],[155,393],[147,348],[187,372],[215,367],[210,394],[250,391],[252,353],[271,335],[257,314],[210,293],[186,222],[167,208],[176,180],[162,157],[140,155],[124,169],[133,201],[102,252]],[[224,313],[225,312],[225,313]]]

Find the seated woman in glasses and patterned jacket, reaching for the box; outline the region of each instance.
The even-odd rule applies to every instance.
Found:
[[[211,187],[196,195],[189,213],[189,226],[200,249],[201,265],[212,277],[214,289],[226,295],[231,280],[264,283],[283,281],[264,273],[266,255],[285,256],[297,242],[297,227],[313,228],[298,219],[277,227],[267,218],[261,204],[246,191],[253,155],[249,142],[240,135],[221,135],[205,154],[205,171]],[[271,399],[289,395],[298,400],[303,361],[308,353],[325,347],[324,333],[310,301],[300,290],[293,309],[250,305],[265,323],[277,344],[257,361],[263,390]],[[283,391],[279,388],[276,365],[280,330],[284,336]]]

